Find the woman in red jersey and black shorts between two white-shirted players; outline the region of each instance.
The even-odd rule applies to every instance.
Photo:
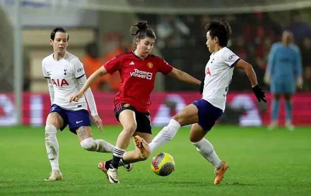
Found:
[[[130,151],[126,153],[125,149],[128,147],[132,136],[139,135],[147,143],[152,140],[149,96],[154,88],[155,74],[161,72],[187,83],[196,85],[201,83],[189,74],[173,68],[163,59],[150,54],[156,37],[154,30],[148,28],[146,21],[138,22],[132,27],[137,27],[136,32],[131,33],[135,35],[133,41],[136,49],[129,53],[117,55],[106,62],[87,79],[82,89],[69,100],[70,102],[78,101],[86,89],[105,74],[113,74],[115,71],[120,72],[122,81],[119,84],[120,91],[114,98],[114,111],[116,118],[123,126],[123,130],[117,139],[113,159],[108,162],[101,162],[102,165],[101,163],[99,165],[103,167],[102,170],[111,183],[120,183],[117,169],[120,164],[124,164],[124,159],[129,163],[145,159],[140,157],[139,149],[137,149],[137,152]]]

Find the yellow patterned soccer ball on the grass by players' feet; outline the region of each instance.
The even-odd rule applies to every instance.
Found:
[[[151,169],[158,176],[168,176],[175,170],[174,159],[170,154],[160,152],[152,158]]]

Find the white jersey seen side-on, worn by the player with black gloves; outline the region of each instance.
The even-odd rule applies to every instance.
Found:
[[[223,111],[234,65],[239,60],[237,55],[225,47],[212,53],[205,67],[203,99]]]

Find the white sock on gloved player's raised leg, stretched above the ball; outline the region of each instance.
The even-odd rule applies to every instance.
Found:
[[[173,137],[176,135],[178,129],[180,128],[180,124],[172,119],[170,120],[170,123],[167,127],[164,127],[152,140],[152,142],[149,144],[149,150],[150,152],[153,152],[158,147],[168,143],[173,139]]]

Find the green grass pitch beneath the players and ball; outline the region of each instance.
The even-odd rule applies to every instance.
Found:
[[[154,136],[160,128],[154,128]],[[115,144],[121,127],[93,129],[95,139]],[[216,126],[206,138],[229,163],[225,179],[213,185],[215,174],[189,141],[190,128],[157,152],[170,153],[176,163],[168,177],[156,176],[151,158],[135,163],[131,172],[119,169],[121,184],[110,184],[97,168],[112,154],[88,152],[66,129],[57,134],[62,181],[44,181],[51,172],[44,128],[0,128],[0,196],[307,196],[311,194],[311,128],[294,132],[279,128]],[[131,143],[128,149],[134,149]]]

